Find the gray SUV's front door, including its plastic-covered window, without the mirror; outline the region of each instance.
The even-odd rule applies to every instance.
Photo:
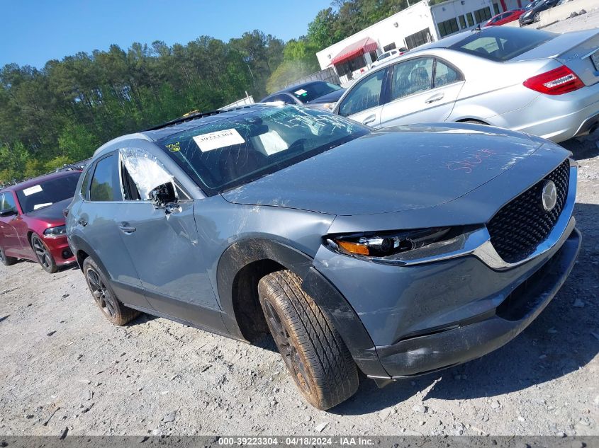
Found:
[[[168,316],[225,331],[208,278],[205,248],[198,241],[194,200],[145,150],[121,149],[121,163],[128,207],[118,226],[147,300]],[[149,200],[150,191],[165,183],[177,191],[176,207],[157,207]]]

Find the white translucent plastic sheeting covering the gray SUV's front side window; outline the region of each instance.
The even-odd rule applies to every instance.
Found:
[[[155,156],[137,148],[119,149],[123,164],[135,182],[142,200],[149,199],[150,191],[173,178]]]

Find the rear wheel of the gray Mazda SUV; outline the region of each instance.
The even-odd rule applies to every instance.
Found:
[[[131,309],[118,300],[106,275],[91,257],[83,261],[82,270],[91,296],[94,297],[96,305],[108,321],[123,326],[140,315],[140,311]]]

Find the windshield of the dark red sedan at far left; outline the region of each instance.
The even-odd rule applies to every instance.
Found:
[[[73,171],[68,176],[44,180],[22,190],[17,190],[16,195],[23,213],[33,212],[33,210],[73,197],[79,176],[81,176],[80,171]]]

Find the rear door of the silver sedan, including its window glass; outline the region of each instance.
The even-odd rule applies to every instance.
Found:
[[[449,62],[417,57],[393,65],[391,100],[381,111],[381,127],[443,122],[452,113],[464,76]]]

